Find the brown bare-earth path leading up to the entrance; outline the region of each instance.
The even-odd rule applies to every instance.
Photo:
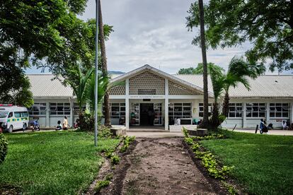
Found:
[[[197,169],[182,138],[137,139],[122,194],[217,194]],[[121,178],[122,179],[122,178]]]

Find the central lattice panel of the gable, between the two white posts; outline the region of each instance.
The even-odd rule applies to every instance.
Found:
[[[165,95],[165,78],[145,71],[130,78],[130,95]]]

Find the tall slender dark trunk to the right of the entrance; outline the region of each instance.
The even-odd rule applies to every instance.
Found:
[[[202,0],[198,0],[200,10],[200,40],[202,47],[202,68],[203,68],[203,88],[204,88],[204,110],[203,119],[200,128],[207,128],[209,123],[209,96],[207,93],[207,51],[205,46],[205,16]]]

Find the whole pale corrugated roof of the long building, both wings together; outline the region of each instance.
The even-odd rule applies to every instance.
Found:
[[[33,97],[73,97],[73,90],[62,85],[57,79],[52,80],[52,74],[28,74]],[[113,75],[115,78],[119,75]],[[173,75],[190,84],[203,88],[202,75]],[[231,87],[231,98],[293,98],[293,76],[259,76],[255,80],[248,78],[251,90],[239,84]],[[212,92],[212,83],[208,77],[208,89]]]

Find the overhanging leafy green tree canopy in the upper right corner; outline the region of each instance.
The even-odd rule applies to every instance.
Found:
[[[200,25],[200,8],[191,4],[187,25]],[[234,47],[251,42],[246,52],[248,62],[265,63],[270,70],[293,69],[293,1],[217,1],[205,4],[207,44],[212,48]],[[200,44],[200,35],[193,40]]]

